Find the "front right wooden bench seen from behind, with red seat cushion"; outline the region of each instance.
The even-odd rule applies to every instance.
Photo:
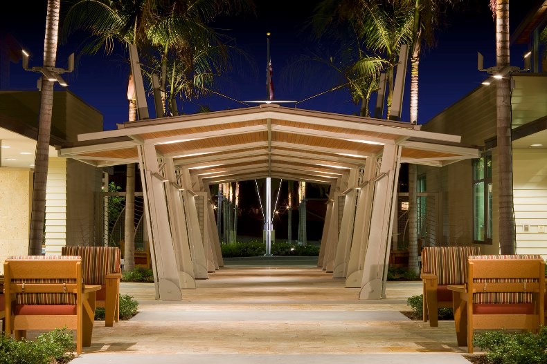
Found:
[[[458,346],[473,352],[475,329],[537,332],[544,323],[545,262],[541,256],[470,256],[467,282],[454,291]]]

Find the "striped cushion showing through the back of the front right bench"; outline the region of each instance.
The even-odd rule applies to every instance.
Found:
[[[514,254],[514,255],[488,255],[488,256],[469,256],[469,259],[542,259],[538,254]],[[475,283],[483,282],[537,282],[537,279],[533,278],[476,278],[473,280]],[[519,303],[531,303],[532,294],[523,292],[477,292],[473,294],[473,303],[487,305],[487,304],[519,304]]]

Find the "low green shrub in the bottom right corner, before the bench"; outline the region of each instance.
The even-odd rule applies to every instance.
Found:
[[[473,344],[485,350],[491,364],[547,363],[547,328],[539,334],[503,331],[475,334]]]

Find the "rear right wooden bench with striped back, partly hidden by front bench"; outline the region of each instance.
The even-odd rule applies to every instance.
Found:
[[[423,319],[438,326],[438,309],[452,307],[449,285],[463,285],[467,257],[478,255],[478,247],[425,247],[422,250]]]

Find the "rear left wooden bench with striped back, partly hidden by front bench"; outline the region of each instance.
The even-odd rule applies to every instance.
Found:
[[[62,247],[63,256],[81,256],[86,285],[100,285],[96,306],[105,307],[105,326],[120,317],[120,249],[117,247]]]

